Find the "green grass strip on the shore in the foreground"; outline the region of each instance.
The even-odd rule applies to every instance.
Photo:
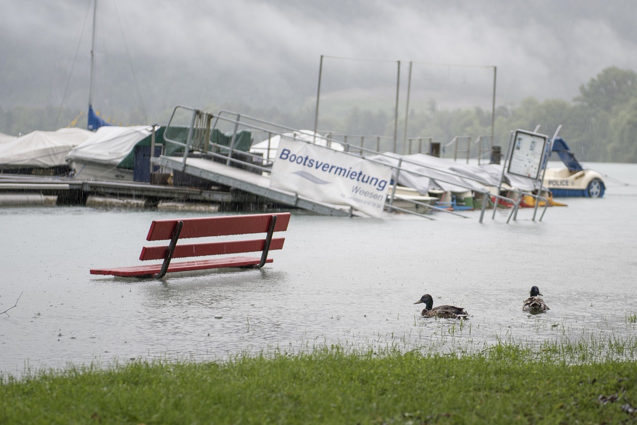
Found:
[[[633,344],[630,342],[628,345]],[[637,363],[569,363],[569,345],[467,356],[345,352],[135,361],[0,375],[3,424],[617,423],[636,421]],[[571,350],[590,349],[590,343]],[[604,405],[599,396],[617,394]]]

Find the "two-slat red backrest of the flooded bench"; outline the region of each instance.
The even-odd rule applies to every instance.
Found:
[[[266,233],[269,230],[270,220],[273,215],[276,215],[274,231],[287,230],[290,222],[290,213],[224,215],[194,219],[154,220],[150,224],[146,239],[149,241],[171,240],[173,238],[173,230],[178,221],[183,222],[179,240],[208,236]],[[282,249],[283,241],[285,241],[285,238],[272,238],[269,249]],[[257,252],[264,249],[264,244],[265,238],[178,244],[175,246],[172,257],[183,258]],[[164,259],[168,248],[168,245],[143,247],[140,260]]]

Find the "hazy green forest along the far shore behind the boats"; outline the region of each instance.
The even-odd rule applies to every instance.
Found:
[[[540,101],[534,97],[523,99],[515,107],[498,106],[494,117],[492,145],[503,150],[509,134],[515,129],[533,131],[553,136],[562,125],[559,136],[581,161],[589,162],[637,162],[637,74],[630,69],[606,68],[589,82],[580,85],[579,94],[570,102],[563,99]],[[245,115],[259,116],[277,124],[296,128],[313,129],[313,105],[303,106],[294,112],[278,108],[266,110],[245,104],[210,104],[206,110],[233,110]],[[171,110],[159,113],[155,122],[168,122]],[[408,115],[409,138],[431,137],[445,145],[455,136],[491,135],[491,110],[483,108],[440,110],[436,99],[429,100],[429,110],[410,110]],[[143,122],[140,110],[113,112],[122,122],[115,125],[149,124]],[[0,133],[18,134],[34,130],[50,131],[59,127],[86,127],[86,113],[56,106],[0,108]],[[364,106],[352,106],[347,113],[327,116],[321,128],[338,129],[339,133],[357,135],[392,136],[394,115],[387,110],[368,110]],[[404,117],[399,117],[397,140],[403,140]],[[399,143],[401,147],[402,143]]]

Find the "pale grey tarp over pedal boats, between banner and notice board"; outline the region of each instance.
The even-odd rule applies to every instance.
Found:
[[[392,178],[396,180],[397,176],[399,185],[412,187],[424,196],[431,189],[445,192],[487,191],[487,186],[499,186],[503,167],[500,164],[459,164],[451,159],[426,154],[398,155],[385,152],[368,159],[394,167],[398,166],[399,159],[403,159],[402,171],[397,173],[397,169],[392,168]],[[522,191],[534,191],[540,186],[535,180],[508,173],[505,173],[505,183]]]

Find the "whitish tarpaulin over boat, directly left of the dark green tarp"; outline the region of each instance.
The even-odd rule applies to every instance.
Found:
[[[152,134],[152,126],[99,127],[82,145],[69,152],[66,161],[97,162],[117,166],[141,140]]]

